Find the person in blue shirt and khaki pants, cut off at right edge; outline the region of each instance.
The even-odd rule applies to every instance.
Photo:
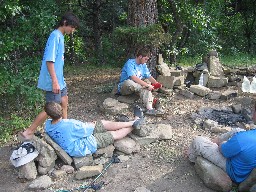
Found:
[[[213,140],[197,136],[187,151],[188,159],[202,156],[224,170],[235,183],[243,182],[256,168],[256,129],[234,128]]]

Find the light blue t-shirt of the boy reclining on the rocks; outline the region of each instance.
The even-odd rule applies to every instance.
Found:
[[[51,119],[46,121],[46,133],[70,156],[84,157],[96,152],[97,142],[91,124],[75,119],[62,119],[56,124],[51,122]]]

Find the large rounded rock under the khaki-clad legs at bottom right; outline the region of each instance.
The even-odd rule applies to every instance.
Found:
[[[225,171],[210,161],[198,156],[195,162],[195,169],[204,184],[216,191],[229,192],[232,188],[232,181]]]

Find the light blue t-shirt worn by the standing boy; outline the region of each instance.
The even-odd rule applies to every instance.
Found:
[[[52,61],[54,63],[54,69],[60,85],[60,90],[66,87],[63,75],[64,52],[64,35],[56,29],[50,34],[46,43],[37,84],[38,88],[45,91],[52,91],[52,78],[47,69],[46,61]]]

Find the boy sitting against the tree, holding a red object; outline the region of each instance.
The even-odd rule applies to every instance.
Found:
[[[149,60],[149,51],[145,48],[139,49],[135,59],[129,59],[121,72],[118,84],[118,93],[130,95],[138,93],[147,108],[147,115],[163,115],[162,112],[153,109],[152,90],[162,87],[154,77],[151,76],[146,62]],[[150,84],[144,80],[148,79]]]

